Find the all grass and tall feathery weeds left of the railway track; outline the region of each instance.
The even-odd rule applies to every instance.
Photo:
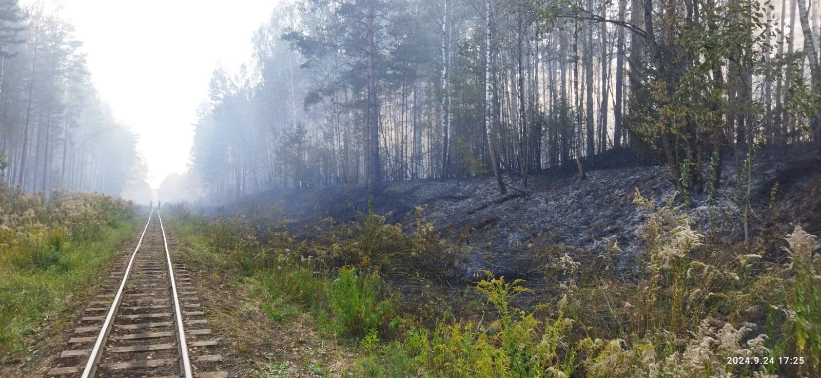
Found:
[[[0,353],[24,351],[24,336],[88,284],[133,230],[133,206],[91,193],[48,202],[0,187]]]

